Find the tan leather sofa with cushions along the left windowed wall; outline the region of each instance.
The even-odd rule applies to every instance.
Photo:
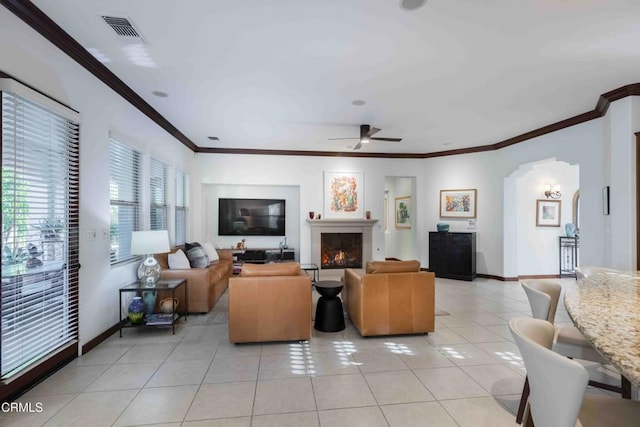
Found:
[[[182,249],[176,247],[171,253]],[[218,250],[218,261],[212,262],[207,268],[169,269],[169,254],[157,254],[155,258],[162,267],[162,279],[187,279],[190,313],[208,313],[215,302],[229,286],[229,277],[233,274],[233,253],[230,250]],[[178,292],[176,292],[178,293]],[[170,297],[159,293],[157,301]],[[184,301],[184,294],[178,295]],[[181,311],[183,307],[178,307]]]

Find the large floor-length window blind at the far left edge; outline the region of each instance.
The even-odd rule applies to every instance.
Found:
[[[79,125],[2,95],[1,375],[78,339]],[[77,350],[76,350],[77,352]]]

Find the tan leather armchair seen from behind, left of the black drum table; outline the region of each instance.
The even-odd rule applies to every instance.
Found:
[[[247,264],[229,279],[229,341],[311,338],[311,278],[297,262]]]

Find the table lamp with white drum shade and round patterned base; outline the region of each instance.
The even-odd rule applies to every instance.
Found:
[[[153,285],[160,279],[162,268],[153,254],[169,252],[167,230],[134,231],[131,235],[131,255],[144,255],[138,267],[138,279],[146,285]]]

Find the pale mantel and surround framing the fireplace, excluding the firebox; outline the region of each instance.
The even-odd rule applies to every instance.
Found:
[[[307,223],[311,227],[311,262],[321,266],[320,243],[322,233],[362,233],[362,265],[366,265],[373,257],[372,229],[378,222],[377,219],[350,219],[350,218],[330,218],[330,219],[308,219]],[[342,277],[344,270],[322,269],[320,268],[320,279]]]

